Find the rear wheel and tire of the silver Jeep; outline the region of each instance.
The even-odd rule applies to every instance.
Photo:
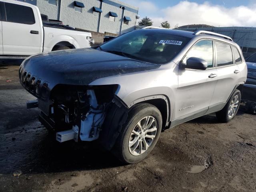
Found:
[[[230,105],[232,105],[234,103],[236,98],[238,98],[238,102],[236,102],[236,104],[235,104],[235,106],[237,106],[237,107],[236,108],[233,107],[234,112],[231,112],[231,114],[232,114],[232,116],[231,116],[231,114],[229,113],[229,110],[230,109],[232,110],[232,107],[230,108]],[[234,93],[232,94],[232,96],[230,97],[230,99],[228,100],[225,107],[222,110],[220,110],[219,112],[216,112],[217,119],[221,122],[226,122],[226,123],[232,121],[232,119],[236,116],[236,113],[238,112],[240,102],[241,102],[241,92],[240,92],[240,90],[236,89],[234,91]]]

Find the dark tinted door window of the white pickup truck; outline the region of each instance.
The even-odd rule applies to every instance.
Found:
[[[34,24],[35,18],[32,8],[12,3],[4,3],[6,21],[21,24]]]

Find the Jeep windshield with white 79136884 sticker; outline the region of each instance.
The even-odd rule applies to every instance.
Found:
[[[141,61],[164,64],[170,62],[190,38],[164,32],[135,30],[100,46],[100,50]]]

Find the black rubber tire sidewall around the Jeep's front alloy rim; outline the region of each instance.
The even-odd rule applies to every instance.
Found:
[[[146,116],[152,116],[156,119],[156,124],[157,124],[156,137],[154,138],[154,140],[153,140],[152,144],[150,145],[150,147],[148,148],[148,150],[146,150],[141,155],[134,156],[130,153],[129,148],[128,148],[130,134],[131,134],[133,128],[136,126],[136,124],[142,118],[144,118]],[[132,121],[130,121],[130,124],[126,125],[126,133],[124,134],[124,138],[123,138],[123,142],[122,142],[122,156],[124,158],[124,161],[128,162],[128,163],[136,163],[136,162],[139,162],[139,161],[143,160],[144,158],[146,158],[146,156],[148,156],[148,154],[152,151],[152,149],[156,145],[156,142],[158,141],[158,138],[161,133],[161,129],[162,129],[162,116],[161,116],[161,113],[159,112],[159,110],[151,107],[151,108],[144,108],[143,110],[139,111],[136,114],[136,116],[134,116]]]

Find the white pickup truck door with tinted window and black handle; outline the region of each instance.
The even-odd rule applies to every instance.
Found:
[[[42,28],[34,6],[4,2],[2,14],[2,40],[4,55],[32,55],[39,53]]]

